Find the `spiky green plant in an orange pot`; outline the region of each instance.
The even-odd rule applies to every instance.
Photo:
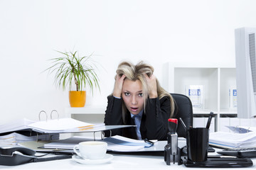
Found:
[[[57,51],[59,52],[59,51]],[[55,84],[62,86],[63,90],[68,86],[69,101],[71,107],[84,107],[86,101],[86,91],[82,87],[89,86],[90,91],[94,88],[100,90],[99,81],[95,72],[95,64],[92,63],[89,56],[79,57],[78,52],[60,52],[63,57],[51,59],[53,65],[48,70],[55,72]],[[75,85],[76,91],[71,91]]]

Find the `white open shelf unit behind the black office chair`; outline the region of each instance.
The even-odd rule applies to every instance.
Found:
[[[170,93],[185,94],[186,85],[203,85],[204,109],[193,108],[194,117],[207,117],[215,113],[215,131],[220,130],[220,117],[236,117],[229,109],[229,89],[236,85],[235,66],[232,64],[166,63],[164,89]]]

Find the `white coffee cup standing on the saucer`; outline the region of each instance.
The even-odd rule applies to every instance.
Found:
[[[107,143],[100,141],[80,142],[73,148],[83,159],[103,159],[107,152]]]

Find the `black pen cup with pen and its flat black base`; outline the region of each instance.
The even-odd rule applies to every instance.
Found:
[[[183,164],[187,167],[204,168],[240,168],[252,166],[252,160],[238,157],[208,156],[208,140],[210,121],[213,112],[210,112],[206,128],[190,128],[187,130],[187,154]]]

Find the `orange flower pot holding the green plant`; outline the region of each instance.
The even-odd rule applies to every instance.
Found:
[[[73,108],[84,107],[86,101],[86,91],[69,91],[70,106]]]

